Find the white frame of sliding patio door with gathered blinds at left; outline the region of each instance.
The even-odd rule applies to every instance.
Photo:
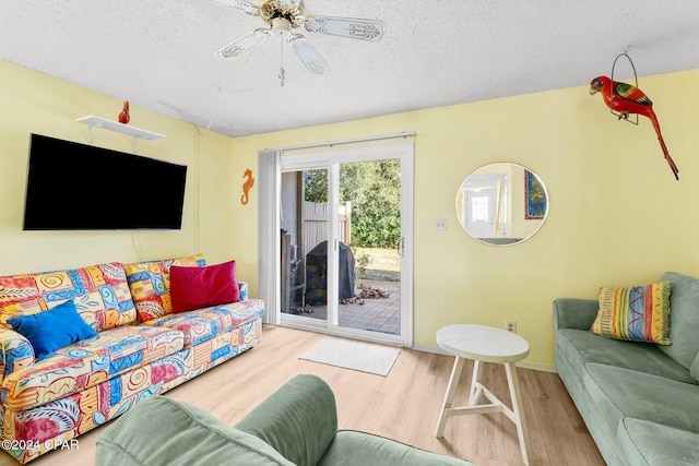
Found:
[[[260,184],[265,195],[260,196],[259,215],[259,280],[261,298],[266,303],[265,322],[283,324],[296,328],[310,330],[356,339],[384,343],[396,346],[413,346],[413,191],[414,191],[414,144],[393,143],[380,145],[363,145],[345,150],[313,151],[303,154],[282,154],[282,151],[261,151],[259,153],[259,175],[268,186]],[[381,334],[355,328],[340,327],[328,321],[316,321],[299,315],[283,314],[280,297],[280,248],[279,248],[279,213],[281,205],[281,176],[283,171],[304,169],[328,169],[329,182],[339,178],[339,167],[343,163],[369,162],[378,159],[401,159],[401,234],[403,237],[401,258],[401,333],[400,335]],[[264,164],[264,167],[262,167]],[[262,181],[262,180],[261,180]],[[336,203],[332,202],[334,192],[330,193],[330,215],[335,218]],[[335,200],[336,201],[336,200]],[[329,238],[337,238],[335,222],[329,222]],[[329,248],[331,267],[329,277],[331,286],[336,286],[337,274],[335,248]],[[265,283],[262,286],[262,283]],[[329,290],[334,294],[334,290]],[[332,295],[331,295],[332,296]]]

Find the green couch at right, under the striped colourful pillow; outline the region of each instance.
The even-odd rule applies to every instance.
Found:
[[[699,280],[668,272],[672,344],[590,332],[596,300],[557,299],[556,368],[609,465],[699,464]]]

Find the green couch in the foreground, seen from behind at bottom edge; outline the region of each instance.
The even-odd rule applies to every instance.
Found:
[[[97,465],[223,464],[472,465],[369,433],[337,431],[332,391],[307,374],[286,382],[235,427],[156,395],[115,421],[97,441]]]

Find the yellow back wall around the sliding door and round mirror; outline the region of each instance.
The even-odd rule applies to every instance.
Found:
[[[416,131],[415,344],[435,347],[435,332],[450,323],[516,320],[531,344],[525,363],[552,369],[554,299],[596,298],[600,286],[670,270],[699,275],[699,70],[642,77],[640,86],[680,181],[648,120],[617,121],[587,85],[236,139],[234,179],[257,166],[258,148]],[[461,229],[454,196],[474,169],[503,160],[542,177],[550,213],[531,240],[496,248]],[[257,195],[233,208],[239,223],[256,224]],[[433,229],[441,217],[446,232]],[[254,228],[234,228],[233,241],[257,275]]]

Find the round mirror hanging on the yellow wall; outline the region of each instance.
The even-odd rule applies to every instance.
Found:
[[[487,244],[510,246],[531,238],[547,214],[544,182],[518,164],[481,167],[466,177],[457,193],[459,223]]]

